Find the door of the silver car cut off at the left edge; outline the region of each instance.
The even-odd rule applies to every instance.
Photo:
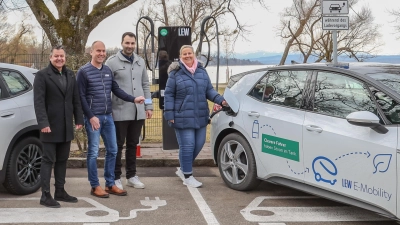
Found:
[[[7,148],[18,132],[18,125],[21,121],[21,112],[9,93],[3,75],[7,71],[0,68],[0,169],[3,168],[4,157]]]

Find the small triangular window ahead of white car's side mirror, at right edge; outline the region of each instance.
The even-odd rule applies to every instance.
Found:
[[[400,104],[375,87],[370,87],[376,102],[392,124],[400,124]]]

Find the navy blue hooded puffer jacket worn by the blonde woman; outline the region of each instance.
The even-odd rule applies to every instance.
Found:
[[[173,65],[175,64],[175,65]],[[176,66],[176,63],[170,67]],[[173,128],[198,129],[208,124],[207,99],[220,104],[224,98],[214,90],[207,71],[199,63],[192,75],[179,61],[179,69],[169,73],[164,92],[164,117]]]

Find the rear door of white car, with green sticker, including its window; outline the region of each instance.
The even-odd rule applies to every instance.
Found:
[[[300,110],[309,73],[306,70],[268,72],[241,103],[246,132],[256,146],[255,154],[265,170],[258,176],[291,177],[303,182]]]

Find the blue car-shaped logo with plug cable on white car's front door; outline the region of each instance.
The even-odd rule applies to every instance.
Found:
[[[337,175],[338,171],[336,165],[330,159],[324,156],[318,156],[313,160],[312,168],[316,181],[335,185],[337,180],[334,176]]]

